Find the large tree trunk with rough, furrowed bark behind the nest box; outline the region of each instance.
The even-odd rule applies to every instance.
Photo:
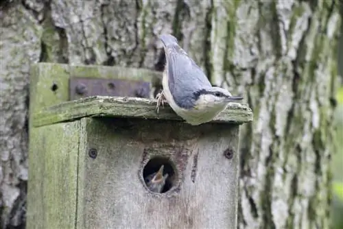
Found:
[[[161,33],[254,111],[241,127],[239,228],[328,228],[338,1],[0,4],[3,228],[25,223],[29,64],[161,70]]]

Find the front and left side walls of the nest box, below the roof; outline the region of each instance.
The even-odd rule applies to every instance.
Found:
[[[238,133],[227,123],[106,117],[34,128],[27,228],[237,228]],[[143,182],[155,156],[176,170],[166,193]]]

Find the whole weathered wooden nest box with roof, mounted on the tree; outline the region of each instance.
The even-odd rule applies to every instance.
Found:
[[[158,74],[32,67],[27,228],[237,228],[239,125],[252,111],[230,104],[198,126],[167,105],[156,114]],[[154,193],[144,178],[161,165]]]

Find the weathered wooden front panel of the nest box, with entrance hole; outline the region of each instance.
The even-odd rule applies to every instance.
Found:
[[[77,228],[237,228],[238,125],[85,120]],[[144,177],[162,164],[153,193]]]

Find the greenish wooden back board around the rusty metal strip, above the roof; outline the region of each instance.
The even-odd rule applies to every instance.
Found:
[[[30,75],[30,110],[53,106],[69,100],[70,77],[142,80],[156,82],[161,72],[129,67],[99,65],[69,65],[56,63],[32,64]]]

